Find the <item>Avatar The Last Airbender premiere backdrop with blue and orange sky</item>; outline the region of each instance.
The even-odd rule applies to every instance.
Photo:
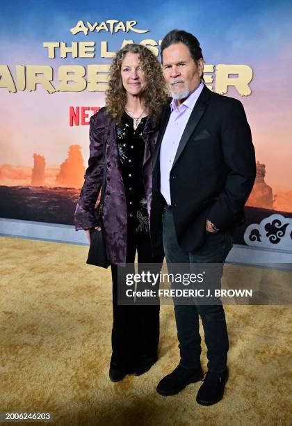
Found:
[[[177,28],[197,36],[207,86],[241,100],[252,128],[257,180],[237,248],[258,249],[245,261],[254,253],[279,261],[270,257],[278,253],[289,262],[291,2],[29,0],[1,2],[0,20],[2,234],[86,242],[72,228],[74,208],[108,65],[127,42],[159,56],[161,39]]]

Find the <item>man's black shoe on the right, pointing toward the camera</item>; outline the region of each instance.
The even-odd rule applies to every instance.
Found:
[[[197,393],[197,403],[201,405],[213,405],[222,400],[227,379],[228,368],[221,373],[208,371],[204,378],[204,383]]]

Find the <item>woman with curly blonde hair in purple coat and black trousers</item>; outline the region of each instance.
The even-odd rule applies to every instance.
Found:
[[[106,108],[90,119],[90,158],[75,224],[76,230],[86,230],[89,241],[90,228],[99,229],[92,210],[102,186],[106,143],[103,219],[113,280],[111,381],[120,381],[126,374],[143,374],[157,361],[159,303],[118,303],[126,268],[118,270],[117,265],[133,265],[136,252],[138,264],[156,264],[156,271],[163,261],[162,247],[158,255],[152,253],[148,218],[151,157],[167,99],[161,65],[155,56],[142,45],[127,45],[113,59]]]

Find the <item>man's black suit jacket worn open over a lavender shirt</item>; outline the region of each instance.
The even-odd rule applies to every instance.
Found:
[[[160,148],[170,118],[163,112],[153,157],[150,232],[162,240],[165,200],[160,192]],[[204,244],[209,219],[222,231],[244,221],[245,205],[256,175],[254,146],[243,105],[204,86],[181,136],[170,171],[172,214],[179,246],[194,251]]]

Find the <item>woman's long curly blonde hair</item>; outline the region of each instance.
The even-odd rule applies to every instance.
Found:
[[[168,90],[163,79],[161,64],[154,54],[143,45],[129,44],[120,49],[110,68],[109,88],[106,90],[106,111],[116,124],[120,124],[127,94],[122,85],[121,67],[124,56],[131,52],[138,54],[142,70],[145,73],[146,87],[143,93],[145,108],[155,123],[159,122],[163,106],[168,100]]]

